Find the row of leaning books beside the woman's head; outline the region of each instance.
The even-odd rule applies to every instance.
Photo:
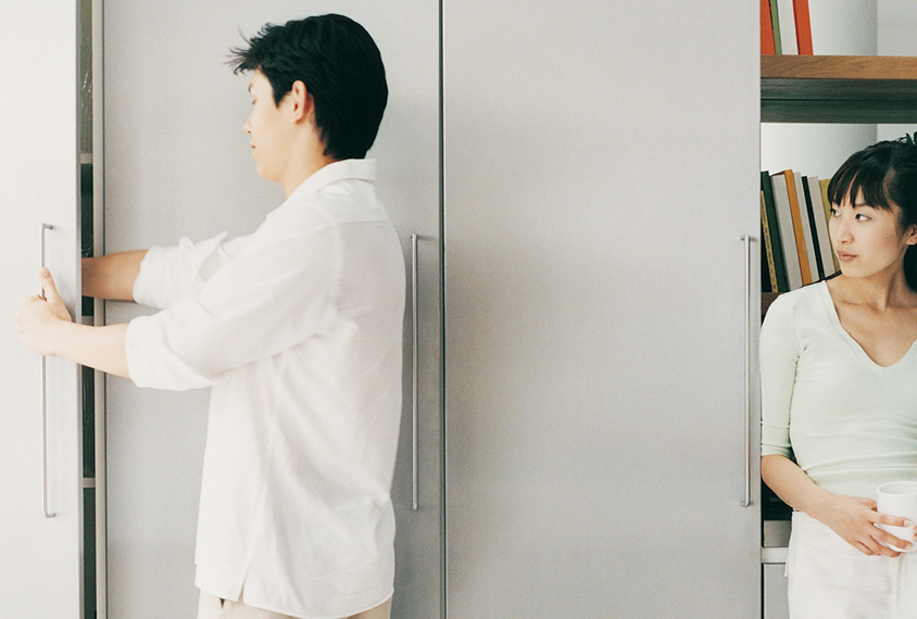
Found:
[[[764,292],[789,292],[840,270],[828,235],[829,180],[792,169],[761,173]]]

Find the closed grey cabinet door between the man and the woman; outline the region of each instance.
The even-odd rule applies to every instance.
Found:
[[[759,615],[757,21],[443,2],[450,619]]]

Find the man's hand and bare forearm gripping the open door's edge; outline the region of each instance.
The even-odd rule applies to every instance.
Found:
[[[16,313],[22,342],[43,356],[60,356],[79,365],[129,378],[125,336],[127,325],[89,327],[71,320],[51,273],[41,270],[39,295],[26,296]]]

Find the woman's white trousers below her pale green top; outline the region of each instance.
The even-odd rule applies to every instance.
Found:
[[[917,618],[917,553],[866,556],[799,511],[787,576],[790,619]]]

